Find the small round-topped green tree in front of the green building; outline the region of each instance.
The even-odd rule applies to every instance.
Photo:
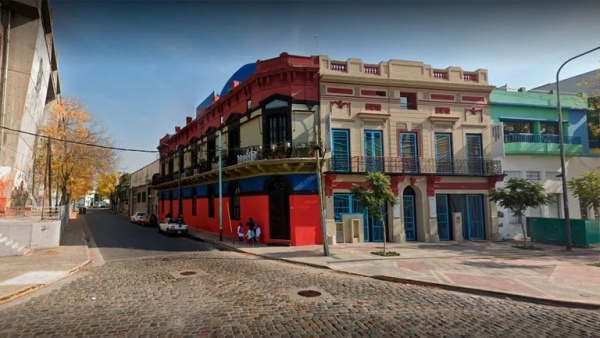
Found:
[[[546,193],[546,189],[540,182],[517,177],[510,178],[504,188],[492,189],[488,197],[490,201],[510,210],[514,217],[525,216],[527,208],[537,208],[553,203],[552,197]],[[523,247],[526,248],[527,234],[523,222],[521,222],[521,230],[523,231]]]

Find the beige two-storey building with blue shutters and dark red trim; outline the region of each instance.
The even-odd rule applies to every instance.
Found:
[[[391,242],[499,240],[486,197],[502,179],[490,158],[493,86],[487,70],[436,69],[422,62],[320,56],[320,134],[327,144],[327,234],[337,242],[378,242],[384,227],[350,194],[370,171],[391,178]]]

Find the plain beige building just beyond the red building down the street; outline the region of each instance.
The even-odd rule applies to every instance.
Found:
[[[131,174],[130,214],[134,212],[158,215],[158,201],[151,188],[152,177],[159,172],[159,160],[142,167]]]

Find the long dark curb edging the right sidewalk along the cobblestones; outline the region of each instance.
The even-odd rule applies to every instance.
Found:
[[[564,308],[572,308],[572,309],[600,310],[600,304],[583,303],[583,302],[560,300],[560,299],[539,298],[539,297],[514,294],[514,293],[510,293],[510,292],[486,290],[486,289],[479,289],[479,288],[470,288],[470,287],[465,287],[465,286],[448,285],[448,284],[440,284],[440,283],[433,283],[433,282],[425,282],[425,281],[418,281],[418,280],[414,280],[414,279],[401,278],[401,277],[362,275],[362,274],[354,273],[354,272],[335,270],[328,266],[324,266],[324,265],[320,265],[320,264],[298,262],[298,261],[288,260],[285,258],[269,257],[269,256],[265,256],[265,255],[260,255],[260,254],[244,251],[237,247],[230,246],[223,242],[215,241],[212,239],[206,239],[206,238],[201,238],[201,237],[196,237],[196,236],[191,236],[191,237],[194,237],[194,239],[199,240],[201,242],[209,243],[217,248],[222,248],[222,249],[226,249],[229,251],[236,251],[236,252],[240,252],[240,253],[256,256],[256,257],[261,257],[264,259],[286,262],[286,263],[291,263],[291,264],[296,264],[296,265],[303,265],[303,266],[308,266],[311,268],[327,269],[329,271],[333,271],[333,272],[341,273],[341,274],[345,274],[345,275],[373,278],[373,279],[377,279],[377,280],[381,280],[381,281],[385,281],[385,282],[402,283],[402,284],[407,284],[407,285],[417,285],[417,286],[427,287],[427,288],[431,288],[431,289],[441,289],[441,290],[445,290],[445,291],[461,292],[461,293],[465,293],[465,294],[494,297],[494,298],[505,299],[505,300],[506,300],[506,298],[510,298],[510,300],[512,300],[512,301],[524,302],[524,303],[533,303],[533,304],[539,304],[539,305],[564,307]]]

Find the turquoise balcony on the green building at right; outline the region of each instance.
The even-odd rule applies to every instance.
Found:
[[[558,135],[506,134],[504,135],[505,155],[553,155],[559,156]],[[566,156],[581,156],[581,137],[563,136]]]

